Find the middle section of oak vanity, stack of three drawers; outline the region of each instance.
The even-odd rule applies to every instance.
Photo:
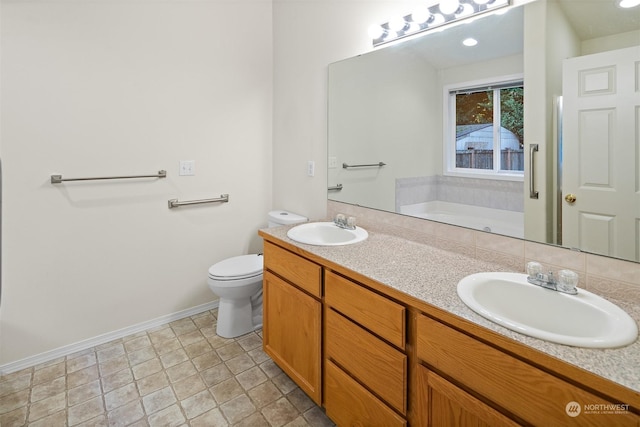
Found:
[[[405,426],[406,309],[325,271],[324,404],[338,425]]]

